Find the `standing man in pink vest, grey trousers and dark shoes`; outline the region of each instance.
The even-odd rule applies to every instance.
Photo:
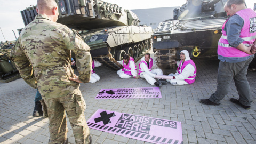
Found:
[[[201,99],[200,102],[205,105],[220,105],[220,101],[228,94],[233,79],[239,99],[231,98],[230,101],[244,109],[250,109],[251,90],[246,75],[255,53],[250,50],[256,38],[256,12],[246,9],[244,0],[228,0],[224,10],[230,18],[223,24],[222,36],[218,42],[220,63],[217,90],[209,99]]]

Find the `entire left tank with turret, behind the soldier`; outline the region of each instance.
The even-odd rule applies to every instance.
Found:
[[[151,46],[152,28],[139,26],[139,18],[117,4],[100,0],[56,0],[59,23],[77,32],[103,65],[118,70],[125,53],[138,61]],[[25,26],[34,20],[36,6],[21,11]],[[74,56],[73,56],[74,57]]]

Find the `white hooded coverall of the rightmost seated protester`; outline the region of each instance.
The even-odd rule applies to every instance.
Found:
[[[189,53],[186,50],[181,51],[183,53],[185,53],[185,61],[190,60],[189,57]],[[177,61],[177,65],[179,67],[181,61]],[[183,64],[183,63],[182,63]],[[180,67],[182,66],[182,64],[180,65]],[[188,64],[183,70],[182,73],[179,74],[178,71],[176,71],[175,74],[171,73],[168,76],[174,76],[175,79],[166,79],[167,82],[170,82],[171,85],[185,85],[188,84],[186,81],[184,81],[185,79],[188,79],[188,77],[193,76],[194,75],[194,71],[195,71],[195,67],[192,66],[191,64]],[[181,72],[181,69],[180,69]]]

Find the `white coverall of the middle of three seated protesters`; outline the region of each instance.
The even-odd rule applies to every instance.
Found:
[[[145,57],[141,58],[141,61],[142,60],[145,61]],[[151,61],[151,59],[149,59],[149,63],[150,63],[150,61]],[[154,60],[153,60],[153,67],[156,67],[156,62]],[[140,68],[142,71],[144,71],[144,72],[140,73],[140,77],[145,78],[146,81],[151,85],[154,85],[156,82],[156,79],[154,78],[155,75],[163,75],[162,69],[157,68],[157,69],[152,69],[151,71],[149,71],[149,68],[145,63],[141,63]]]

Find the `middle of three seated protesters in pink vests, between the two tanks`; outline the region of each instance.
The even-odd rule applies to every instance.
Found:
[[[163,79],[156,81],[154,77],[155,75],[163,75],[163,71],[159,68],[152,69],[153,66],[156,66],[156,62],[150,58],[149,53],[146,53],[139,63],[139,76],[145,78],[149,84],[161,87],[162,84],[166,84],[166,82]]]

